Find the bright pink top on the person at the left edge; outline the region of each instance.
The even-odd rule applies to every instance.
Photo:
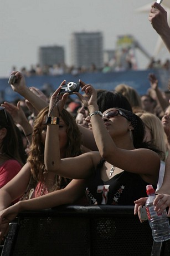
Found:
[[[0,165],[0,188],[19,173],[22,165],[17,160],[9,159]]]

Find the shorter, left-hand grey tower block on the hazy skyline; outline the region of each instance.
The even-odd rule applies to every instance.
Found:
[[[64,63],[64,47],[61,46],[42,46],[38,50],[40,66],[53,66],[54,64]]]

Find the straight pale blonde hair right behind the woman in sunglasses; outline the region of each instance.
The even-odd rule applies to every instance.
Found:
[[[161,160],[165,161],[168,141],[161,120],[150,112],[138,112],[136,115],[139,116],[142,119],[143,124],[150,129],[152,143],[158,150],[161,151],[161,154],[159,154]]]

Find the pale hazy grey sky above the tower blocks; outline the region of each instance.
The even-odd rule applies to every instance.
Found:
[[[13,66],[20,70],[38,63],[40,46],[64,46],[70,65],[70,36],[73,32],[102,32],[104,50],[115,49],[117,36],[132,35],[152,55],[158,35],[148,13],[136,10],[150,0],[1,0],[0,77],[8,77]],[[148,59],[136,51],[138,67]],[[160,52],[164,60],[168,51]]]

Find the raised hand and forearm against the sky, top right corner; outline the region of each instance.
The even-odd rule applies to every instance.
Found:
[[[167,21],[167,11],[161,6],[161,4],[152,4],[149,21],[158,35],[161,36],[164,44],[170,52],[170,27]]]

